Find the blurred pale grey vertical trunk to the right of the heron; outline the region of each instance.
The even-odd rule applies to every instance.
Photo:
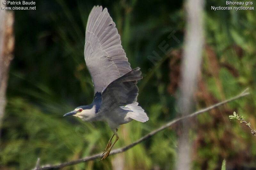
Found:
[[[194,105],[193,94],[197,85],[203,48],[203,1],[187,0],[185,3],[187,26],[182,58],[181,97],[179,99],[179,111],[182,116],[191,113],[191,107]],[[190,121],[183,120],[178,139],[177,170],[189,170],[191,167],[189,129]]]

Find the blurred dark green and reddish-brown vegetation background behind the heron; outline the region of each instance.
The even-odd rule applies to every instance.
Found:
[[[225,2],[205,2],[205,44],[194,110],[246,87],[252,95],[191,120],[192,169],[220,169],[224,158],[230,169],[256,167],[255,137],[245,125],[228,120],[236,111],[256,129],[256,12],[211,10]],[[122,125],[114,148],[130,144],[178,116],[180,57],[186,31],[183,2],[36,1],[34,11],[15,11],[15,53],[1,124],[0,169],[31,169],[37,158],[41,165],[57,164],[105,148],[112,135],[106,123],[62,117],[93,99],[84,63],[85,26],[93,5],[108,8],[132,68],[140,67],[144,74],[138,84],[138,101],[149,121]],[[178,42],[168,38],[172,31]],[[161,47],[167,44],[165,53]],[[150,56],[156,54],[160,57],[152,60]],[[107,170],[122,162],[124,169],[174,169],[178,134],[176,125],[104,161],[63,169]]]

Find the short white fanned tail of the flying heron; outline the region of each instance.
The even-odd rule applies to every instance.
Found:
[[[130,112],[127,113],[127,116],[139,122],[147,122],[148,116],[138,104],[138,102],[134,102],[124,107],[125,110],[130,110]]]

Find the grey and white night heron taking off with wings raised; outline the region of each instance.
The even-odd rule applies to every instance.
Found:
[[[84,122],[108,123],[114,135],[103,152],[106,152],[103,160],[119,138],[119,125],[132,120],[148,121],[147,114],[136,102],[139,92],[136,84],[142,78],[140,68],[131,69],[107,8],[103,11],[101,6],[92,8],[85,32],[84,58],[92,76],[94,100],[92,104],[76,107],[64,116],[73,115]],[[116,140],[111,144],[115,135]]]

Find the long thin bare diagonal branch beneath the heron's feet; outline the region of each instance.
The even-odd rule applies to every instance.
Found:
[[[230,98],[228,100],[224,100],[224,101],[222,101],[220,103],[217,103],[215,105],[212,105],[210,107],[206,107],[206,108],[201,109],[199,111],[196,111],[196,112],[194,112],[194,113],[192,113],[190,115],[174,119],[171,122],[166,123],[164,126],[158,128],[156,130],[153,130],[152,132],[148,133],[147,135],[145,135],[144,137],[140,138],[139,140],[133,142],[132,144],[129,144],[129,145],[124,146],[122,148],[115,149],[115,150],[111,151],[109,155],[114,155],[116,153],[124,152],[124,151],[132,148],[136,144],[139,144],[142,141],[148,139],[149,137],[152,137],[153,135],[155,135],[156,133],[160,132],[161,130],[164,130],[165,128],[167,128],[167,127],[169,127],[169,126],[171,126],[171,125],[173,125],[173,124],[175,124],[177,122],[180,122],[180,120],[188,119],[188,118],[194,117],[196,115],[202,114],[202,113],[207,112],[207,111],[209,111],[209,110],[211,110],[213,108],[219,107],[219,106],[221,106],[223,104],[226,104],[226,103],[231,102],[233,100],[236,100],[236,99],[239,99],[241,97],[247,96],[249,94],[250,94],[249,88],[247,88],[243,92],[241,92],[240,94],[238,94],[238,95],[236,95],[236,96],[234,96],[234,97],[232,97],[232,98]],[[45,166],[41,166],[41,167],[36,166],[34,170],[62,168],[62,167],[65,167],[65,166],[75,165],[75,164],[79,164],[79,163],[82,163],[82,162],[87,162],[87,161],[90,161],[90,160],[98,159],[98,158],[101,158],[101,157],[102,157],[102,154],[98,153],[98,154],[95,154],[95,155],[92,155],[92,156],[88,156],[88,157],[85,157],[85,158],[82,158],[82,159],[68,161],[68,162],[60,163],[60,164],[54,165],[54,166],[52,166],[52,165],[45,165]]]

